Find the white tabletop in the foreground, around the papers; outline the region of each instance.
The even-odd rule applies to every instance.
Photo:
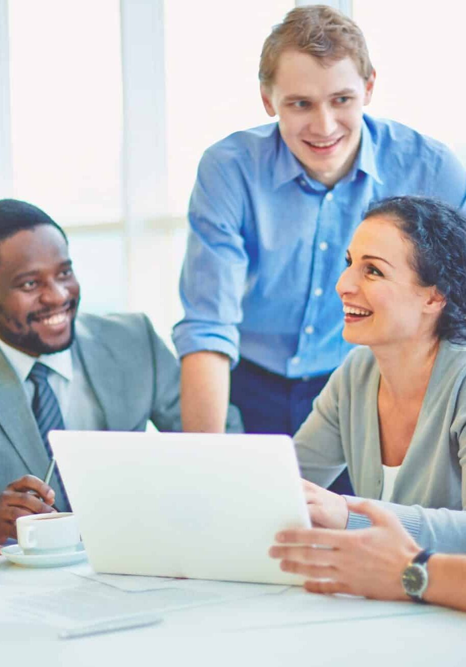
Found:
[[[32,570],[0,557],[0,604],[76,580],[68,568]],[[465,582],[459,582],[464,586]],[[26,587],[26,588],[25,588]],[[410,603],[311,596],[300,589],[164,612],[163,623],[60,640],[36,622],[0,611],[2,664],[33,667],[459,667],[466,660],[466,614]],[[307,610],[331,609],[339,620],[311,622]],[[285,608],[295,609],[283,614]],[[409,615],[406,615],[409,610]],[[347,612],[350,612],[347,614]],[[381,615],[383,614],[383,615]],[[397,615],[405,614],[405,615]],[[373,615],[373,618],[362,618]],[[244,624],[250,629],[238,629]]]

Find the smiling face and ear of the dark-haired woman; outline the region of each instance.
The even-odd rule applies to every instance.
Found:
[[[393,214],[369,213],[347,250],[337,292],[343,301],[343,336],[373,352],[392,340],[431,338],[445,299],[435,285],[420,285],[411,267],[413,247]],[[389,209],[388,209],[389,211]]]

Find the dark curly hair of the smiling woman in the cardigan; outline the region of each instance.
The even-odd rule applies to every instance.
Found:
[[[435,285],[445,297],[435,335],[466,343],[466,218],[427,197],[388,197],[365,219],[388,215],[413,244],[411,267],[423,287]]]

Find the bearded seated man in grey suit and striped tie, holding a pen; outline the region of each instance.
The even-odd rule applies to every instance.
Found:
[[[0,543],[15,538],[19,516],[67,508],[59,472],[41,481],[49,429],[143,431],[151,420],[181,431],[178,364],[149,319],[77,317],[78,306],[63,229],[29,203],[1,200]],[[235,413],[230,430],[241,430]]]

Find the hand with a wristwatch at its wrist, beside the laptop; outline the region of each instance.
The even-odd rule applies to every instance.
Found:
[[[284,572],[309,577],[313,593],[349,593],[379,600],[407,600],[401,573],[421,550],[395,514],[368,500],[348,501],[365,514],[371,528],[361,530],[283,530],[269,554],[281,558]]]

